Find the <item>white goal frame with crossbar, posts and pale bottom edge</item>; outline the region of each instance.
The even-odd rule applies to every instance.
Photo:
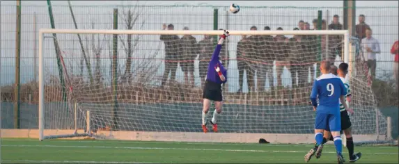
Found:
[[[345,63],[349,63],[351,67],[352,63],[352,56],[350,54],[350,33],[347,30],[338,30],[338,31],[229,31],[230,35],[343,35],[343,56],[341,58],[344,59]],[[65,133],[46,133],[45,131],[45,122],[47,115],[51,115],[52,113],[46,113],[46,111],[49,108],[54,108],[52,106],[46,105],[45,102],[45,90],[46,90],[46,81],[47,80],[47,75],[46,75],[46,63],[45,63],[45,38],[53,38],[54,40],[57,40],[57,38],[54,38],[53,35],[50,36],[50,34],[57,34],[57,35],[70,35],[70,34],[81,34],[81,35],[88,35],[88,34],[95,34],[95,35],[221,35],[223,34],[223,31],[134,31],[134,30],[94,30],[94,29],[47,29],[47,28],[42,28],[39,30],[39,140],[44,140],[47,138],[65,138],[65,137],[79,137],[79,136],[92,136],[93,134],[91,133],[91,128],[93,128],[93,124],[91,122],[100,122],[104,120],[99,120],[97,117],[98,113],[91,112],[91,110],[88,109],[82,109],[84,107],[77,107],[76,102],[68,102],[69,106],[71,108],[74,108],[75,110],[75,133],[70,133],[70,134],[65,134]],[[58,40],[56,42],[61,42],[62,40]],[[181,63],[180,63],[181,64]],[[65,66],[64,66],[65,67]],[[67,66],[68,67],[68,66]],[[248,75],[247,75],[248,76]],[[299,76],[299,75],[298,75]],[[307,75],[306,75],[307,76]],[[350,79],[350,74],[348,74],[347,78]],[[307,79],[307,77],[306,77]],[[356,81],[355,81],[356,82]],[[360,82],[359,82],[360,83]],[[59,86],[58,86],[59,88]],[[370,91],[371,92],[371,91]],[[148,93],[149,94],[149,93]],[[93,95],[95,96],[95,95]],[[247,97],[251,97],[251,94],[244,95],[244,97],[241,97],[241,99],[247,99]],[[137,99],[137,98],[136,98]],[[104,105],[104,104],[103,104]],[[75,106],[75,107],[74,107]],[[370,105],[370,106],[373,106]],[[56,107],[55,107],[56,108]],[[87,131],[84,133],[76,133],[77,130],[77,108],[81,113],[84,113],[81,118],[84,119],[84,124],[86,124]],[[97,108],[97,107],[93,107]],[[107,105],[102,106],[102,108],[107,108]],[[120,107],[122,108],[122,107]],[[134,107],[129,107],[129,108],[134,108]],[[155,108],[162,108],[162,107],[155,107]],[[173,108],[173,107],[171,107]],[[194,108],[194,107],[189,107],[189,108]],[[237,107],[241,108],[241,107]],[[247,105],[245,107],[245,113],[247,113]],[[305,108],[305,107],[301,107]],[[172,110],[172,109],[171,109]],[[198,125],[201,124],[201,115],[200,112],[201,108],[198,108]],[[213,111],[210,109],[210,111]],[[59,112],[59,111],[58,111]],[[226,111],[228,113],[228,111]],[[362,137],[365,141],[367,140],[379,140],[380,137],[380,132],[381,129],[379,129],[378,124],[382,122],[382,119],[379,118],[380,114],[379,112],[375,112],[375,115],[367,115],[366,117],[373,117],[375,120],[375,126],[377,129],[376,135],[363,135]],[[173,113],[171,113],[173,115]],[[222,114],[223,115],[223,114]],[[190,116],[190,117],[196,117],[196,116]],[[238,114],[237,114],[238,116]],[[56,116],[55,116],[56,117]],[[93,118],[96,117],[95,120]],[[107,116],[108,117],[108,116]],[[122,116],[121,116],[122,117]],[[148,116],[148,117],[151,117]],[[281,118],[284,119],[285,117]],[[107,118],[108,119],[108,118]],[[111,121],[107,120],[105,121]],[[123,119],[129,119],[129,118],[123,118]],[[245,118],[246,120],[251,119]],[[72,122],[74,120],[72,119]],[[171,121],[173,122],[173,121]],[[123,126],[132,126],[132,122],[129,122],[129,124],[125,124]],[[157,122],[158,124],[158,122]],[[313,123],[310,123],[313,124]],[[259,126],[258,128],[261,128],[262,126]],[[373,126],[374,127],[374,126]],[[59,129],[58,129],[59,130]],[[97,129],[98,130],[98,129]],[[101,131],[101,130],[98,130]],[[301,142],[313,142],[314,138],[312,137],[313,135],[309,134],[300,134],[296,135],[295,133],[283,133],[283,134],[272,134],[272,133],[206,133],[204,134],[205,136],[198,136],[200,135],[199,132],[192,132],[191,129],[190,131],[115,131],[113,134],[112,131],[109,130],[103,130],[102,134],[105,136],[108,136],[106,134],[108,131],[109,136],[113,136],[114,139],[117,140],[160,140],[160,141],[192,141],[192,142],[253,142],[257,141],[258,138],[267,138],[267,140],[272,140],[272,142],[297,142],[292,140],[292,135],[295,135]],[[97,137],[99,132],[97,132]],[[122,134],[123,133],[123,134]],[[371,132],[373,133],[373,132]],[[202,135],[202,134],[201,134]],[[228,139],[224,140],[224,137],[228,136]],[[92,136],[93,137],[93,136]],[[112,138],[111,138],[112,139]]]

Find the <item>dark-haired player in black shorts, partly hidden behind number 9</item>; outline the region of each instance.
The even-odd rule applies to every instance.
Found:
[[[338,76],[341,79],[341,81],[343,82],[343,84],[345,85],[345,88],[347,90],[347,95],[345,96],[347,103],[350,102],[351,99],[351,94],[350,94],[350,85],[349,83],[347,83],[347,81],[345,80],[345,76],[347,74],[347,68],[349,67],[349,65],[347,65],[347,63],[341,63],[338,66]],[[340,111],[341,111],[341,129],[343,130],[343,133],[345,134],[345,138],[346,138],[346,147],[347,147],[347,151],[349,152],[349,160],[351,163],[354,163],[355,161],[358,161],[361,158],[361,153],[357,153],[354,154],[354,144],[353,144],[353,138],[352,138],[352,123],[350,122],[350,117],[347,114],[347,112],[349,113],[353,113],[353,110],[348,108],[346,109],[345,106],[343,106],[343,104],[340,101]],[[328,140],[331,140],[331,133],[329,132],[329,129],[326,129],[326,131],[324,131],[324,137],[323,137],[323,144],[326,143]]]

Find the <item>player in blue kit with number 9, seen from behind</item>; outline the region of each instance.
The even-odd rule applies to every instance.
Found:
[[[314,154],[316,154],[316,158],[320,158],[323,147],[323,132],[326,129],[331,129],[338,163],[343,163],[339,102],[341,100],[343,106],[347,108],[346,102],[343,101],[347,92],[341,79],[330,73],[330,64],[328,61],[322,61],[320,69],[322,75],[313,83],[311,92],[313,110],[317,108],[315,117],[315,140],[317,143],[306,154],[305,161],[308,162]],[[317,99],[319,99],[319,103]]]

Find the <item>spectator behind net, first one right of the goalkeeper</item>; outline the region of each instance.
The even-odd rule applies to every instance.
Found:
[[[246,52],[248,51],[248,39],[247,35],[242,35],[242,39],[237,42],[237,69],[238,69],[238,83],[240,84],[240,89],[238,92],[242,92],[244,84],[244,70],[247,70],[247,79],[249,77],[253,78],[253,72],[250,71],[249,64],[247,62],[248,56]]]

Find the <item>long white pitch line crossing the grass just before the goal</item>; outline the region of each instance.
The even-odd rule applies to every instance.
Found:
[[[273,153],[307,153],[308,151],[279,151],[279,150],[246,150],[246,149],[194,149],[194,148],[173,148],[173,147],[105,147],[105,146],[66,146],[66,145],[2,145],[3,147],[70,147],[70,148],[104,148],[104,149],[165,149],[165,150],[195,150],[195,151],[247,151],[247,152],[273,152]],[[336,154],[335,151],[323,153]],[[389,154],[398,153],[362,153],[362,154]]]

